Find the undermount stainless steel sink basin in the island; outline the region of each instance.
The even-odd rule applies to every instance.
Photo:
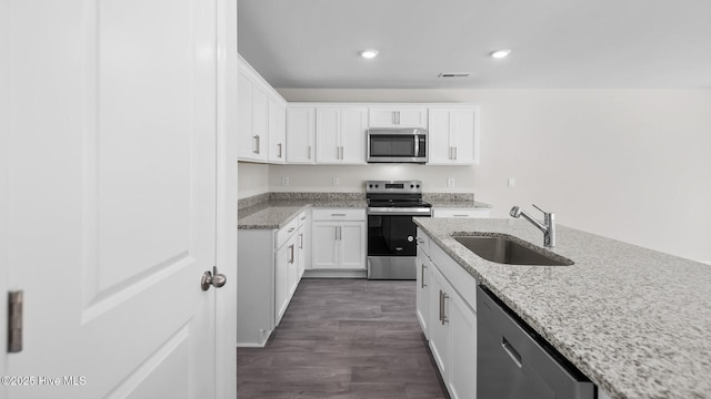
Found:
[[[507,265],[570,266],[573,262],[550,256],[543,249],[535,250],[519,242],[500,236],[453,236],[467,249],[482,258]]]

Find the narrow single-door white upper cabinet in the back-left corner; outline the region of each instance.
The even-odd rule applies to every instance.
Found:
[[[312,164],[316,161],[316,108],[287,108],[287,163]]]

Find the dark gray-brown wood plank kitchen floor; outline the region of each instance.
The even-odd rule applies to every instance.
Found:
[[[449,398],[414,282],[302,279],[266,348],[239,348],[240,399]]]

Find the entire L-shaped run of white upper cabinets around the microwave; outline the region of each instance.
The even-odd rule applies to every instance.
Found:
[[[287,103],[241,57],[239,161],[362,165],[371,127],[429,131],[428,165],[479,163],[479,108],[469,104]]]

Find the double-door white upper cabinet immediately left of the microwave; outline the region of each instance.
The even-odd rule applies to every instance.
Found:
[[[318,106],[316,114],[316,162],[365,164],[368,109]]]

